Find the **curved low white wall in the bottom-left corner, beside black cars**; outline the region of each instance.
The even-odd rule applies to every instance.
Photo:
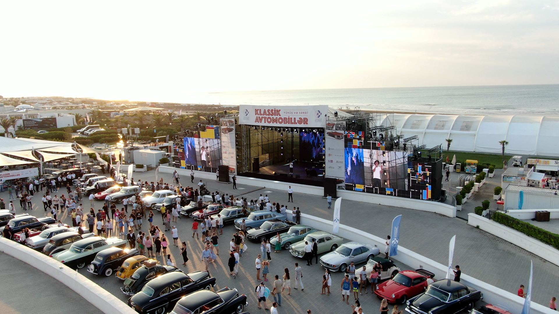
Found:
[[[120,301],[120,299],[108,293],[105,289],[93,283],[82,274],[59,263],[53,258],[49,258],[47,255],[27,248],[27,246],[17,242],[4,239],[3,237],[0,237],[0,251],[39,269],[41,272],[53,277],[53,280],[56,279],[65,284],[73,292],[78,293],[91,303],[92,306],[97,307],[103,313],[136,313],[136,311],[132,310],[131,307]]]

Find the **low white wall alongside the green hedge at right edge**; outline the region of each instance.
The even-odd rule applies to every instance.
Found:
[[[498,222],[489,220],[475,213],[468,213],[468,225],[477,227],[492,235],[498,236],[505,241],[523,248],[530,253],[537,255],[555,265],[559,265],[559,250],[529,237],[522,232],[516,231]]]

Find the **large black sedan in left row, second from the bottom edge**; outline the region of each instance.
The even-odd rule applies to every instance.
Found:
[[[215,277],[210,277],[207,270],[190,274],[168,273],[148,282],[128,300],[128,305],[138,313],[163,314],[187,294],[201,289],[210,290],[215,285]]]

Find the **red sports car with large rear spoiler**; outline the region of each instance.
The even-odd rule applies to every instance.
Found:
[[[377,258],[378,256],[375,257],[375,259]],[[384,267],[382,270],[384,270]],[[367,274],[367,278],[369,278],[369,274]],[[392,279],[378,284],[375,294],[381,299],[386,299],[389,303],[406,303],[407,299],[425,291],[428,286],[427,278],[432,274],[424,269],[418,269],[415,272],[413,270],[401,270],[396,272]],[[383,273],[381,273],[381,278],[385,278]],[[390,277],[387,276],[387,278]]]

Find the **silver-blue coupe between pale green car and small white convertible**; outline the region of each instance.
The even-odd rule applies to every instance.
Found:
[[[379,253],[378,248],[359,242],[347,242],[339,246],[335,251],[320,256],[320,264],[333,272],[345,272],[345,269],[353,261],[359,264],[372,259]]]

